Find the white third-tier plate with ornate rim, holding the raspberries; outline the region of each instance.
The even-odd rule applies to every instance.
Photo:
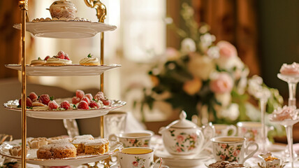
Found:
[[[65,99],[55,99],[55,101],[60,104],[64,100],[71,102],[72,98]],[[109,111],[118,109],[126,104],[120,100],[111,100],[111,106],[103,106],[102,109],[70,109],[65,111],[50,111],[50,110],[38,110],[38,109],[27,109],[26,114],[31,118],[42,118],[42,119],[80,119],[80,118],[94,118],[107,114]],[[21,108],[18,108],[19,100],[10,100],[3,104],[6,109],[12,111],[22,111]]]

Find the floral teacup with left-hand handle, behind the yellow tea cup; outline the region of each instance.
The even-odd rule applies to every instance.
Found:
[[[149,147],[150,139],[152,138],[152,132],[133,132],[122,134],[111,134],[110,140],[117,140],[122,142],[124,148],[128,147]]]

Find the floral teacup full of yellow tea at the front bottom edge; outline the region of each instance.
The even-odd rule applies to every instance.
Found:
[[[125,168],[152,168],[154,165],[162,165],[162,159],[154,161],[152,148],[131,147],[123,148],[119,152],[119,165]]]

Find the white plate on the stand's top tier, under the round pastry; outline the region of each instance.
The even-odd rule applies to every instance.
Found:
[[[15,29],[21,29],[21,24],[13,25]],[[87,38],[95,36],[99,32],[112,31],[116,26],[101,22],[82,21],[47,21],[27,22],[26,29],[34,36],[49,38]]]

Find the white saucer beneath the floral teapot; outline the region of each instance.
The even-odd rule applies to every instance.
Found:
[[[166,150],[163,151],[154,151],[154,155],[158,158],[163,159],[163,164],[168,165],[169,167],[198,167],[204,161],[212,159],[212,151],[209,149],[204,149],[198,155],[195,155],[193,158],[179,158],[174,155],[170,155]]]

